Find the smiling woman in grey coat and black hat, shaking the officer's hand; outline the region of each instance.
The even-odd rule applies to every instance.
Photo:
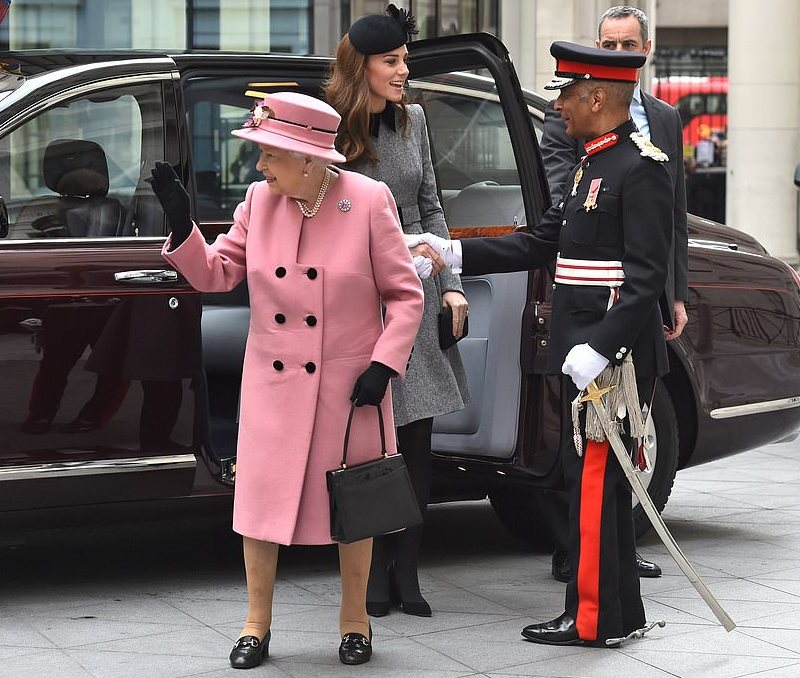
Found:
[[[414,18],[394,5],[387,15],[357,20],[339,43],[325,95],[342,115],[338,145],[347,168],[389,186],[407,236],[431,231],[447,238],[425,114],[404,98],[410,33],[416,33]],[[412,248],[412,253],[420,251]],[[431,484],[433,418],[462,409],[468,399],[458,348],[439,348],[437,319],[443,307],[450,307],[453,333],[461,336],[467,300],[458,275],[439,272],[439,263],[433,270],[437,275],[427,277],[430,260],[418,256],[415,263],[424,278],[425,308],[405,379],[392,383],[392,399],[398,448],[424,514]],[[402,604],[406,614],[431,615],[417,577],[421,541],[422,526],[374,540],[367,589],[371,615],[387,614],[392,602]],[[399,600],[391,600],[392,593]]]

